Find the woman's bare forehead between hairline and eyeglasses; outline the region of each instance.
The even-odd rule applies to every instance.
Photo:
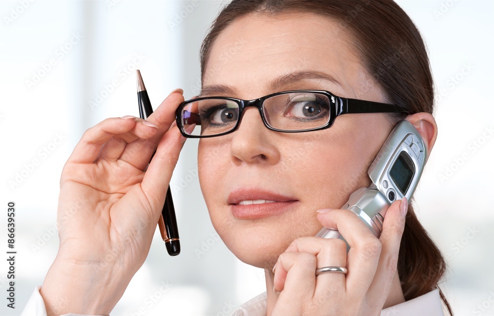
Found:
[[[334,80],[309,81],[346,96],[357,95],[355,87],[370,81],[350,32],[336,20],[312,13],[251,14],[233,21],[215,40],[203,87],[228,86],[242,94],[237,97],[256,98],[278,92],[269,84],[273,80],[306,71],[329,75]]]

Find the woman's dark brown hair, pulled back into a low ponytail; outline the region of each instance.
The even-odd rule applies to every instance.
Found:
[[[424,42],[410,17],[393,0],[233,0],[213,22],[201,47],[204,79],[211,46],[235,19],[248,14],[308,12],[338,20],[355,40],[362,64],[380,85],[386,101],[409,113],[434,108],[433,80]],[[403,116],[393,116],[394,122]],[[406,300],[430,292],[445,273],[446,263],[411,206],[398,259]],[[453,315],[439,289],[441,299]]]

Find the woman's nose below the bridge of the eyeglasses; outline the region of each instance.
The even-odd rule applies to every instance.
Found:
[[[230,153],[236,165],[245,163],[276,164],[280,152],[273,136],[275,131],[264,126],[259,111],[248,107],[239,128],[232,133]]]

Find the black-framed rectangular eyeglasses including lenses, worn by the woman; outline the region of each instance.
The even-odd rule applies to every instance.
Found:
[[[184,137],[207,138],[235,131],[247,107],[259,110],[264,125],[284,133],[308,132],[331,127],[334,119],[350,113],[407,113],[394,104],[338,97],[329,91],[293,90],[255,100],[202,97],[182,102],[176,111]]]

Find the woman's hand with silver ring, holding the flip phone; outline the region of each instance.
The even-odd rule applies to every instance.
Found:
[[[348,255],[341,239],[294,240],[274,268],[274,290],[281,293],[271,315],[380,315],[395,276],[407,209],[406,198],[391,204],[379,239],[349,210],[319,213],[321,224],[348,242]],[[315,276],[316,269],[330,266],[346,267],[348,274]]]

